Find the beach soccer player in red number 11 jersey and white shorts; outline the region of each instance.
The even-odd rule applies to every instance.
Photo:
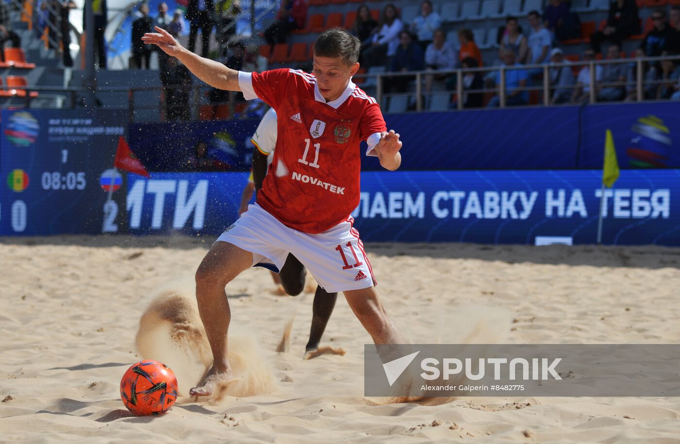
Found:
[[[205,83],[259,97],[276,110],[278,137],[256,204],[216,240],[196,272],[199,314],[212,367],[191,396],[209,396],[233,379],[227,354],[231,313],[224,287],[258,263],[281,269],[299,259],[329,293],[342,291],[375,344],[403,344],[381,303],[351,214],[359,204],[360,142],[381,166],[401,164],[399,134],[386,131],[375,99],[353,82],[361,43],[339,28],[314,43],[313,73],[274,69],[244,73],[189,52],[156,27],[142,39],[178,58]]]

